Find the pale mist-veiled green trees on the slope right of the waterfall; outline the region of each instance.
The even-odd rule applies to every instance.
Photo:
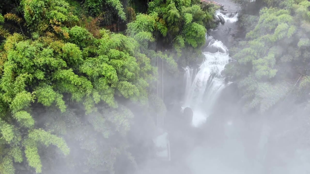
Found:
[[[258,20],[252,16],[246,19],[254,25],[245,25],[250,29],[246,41],[232,49],[237,61],[225,70],[237,80],[243,98],[250,101],[247,109],[267,111],[291,90],[298,90],[294,86],[298,80],[301,88],[308,86],[310,4],[283,1],[277,6],[262,8]]]

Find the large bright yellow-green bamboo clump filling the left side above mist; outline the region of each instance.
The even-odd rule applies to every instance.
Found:
[[[73,27],[68,33],[74,42],[75,35],[82,38],[89,36],[86,31],[81,27]],[[46,132],[36,128],[38,124],[34,118],[42,117],[44,112],[38,110],[43,108],[47,109],[45,114],[50,115],[49,110],[55,113],[46,117],[52,119],[57,115],[55,119],[65,123],[61,113],[80,105],[81,115],[98,112],[93,114],[93,121],[90,121],[95,124],[95,130],[102,132],[101,127],[104,127],[107,132],[111,131],[104,126],[104,120],[107,119],[109,123],[115,123],[117,131],[122,134],[128,131],[127,119],[131,119],[132,115],[126,108],[121,109],[122,114],[118,113],[118,109],[113,109],[120,107],[114,96],[146,104],[148,82],[154,80],[156,69],[149,64],[150,60],[145,55],[137,54],[139,57],[133,57],[138,48],[134,39],[121,34],[111,34],[106,30],[100,33],[99,39],[89,38],[88,43],[85,39],[84,43],[79,43],[80,46],[49,36],[27,39],[14,34],[7,38],[4,44],[7,61],[3,64],[0,83],[3,92],[2,141],[11,148],[6,149],[6,158],[18,158],[15,161],[21,162],[20,159],[23,158],[14,156],[12,150],[19,150],[18,155],[21,155],[22,148],[29,166],[40,173],[42,164],[38,143],[56,145],[65,155],[69,154],[69,148],[62,138],[51,134],[50,129]],[[105,114],[99,113],[97,104],[111,108],[111,111],[107,112],[107,108],[104,109]],[[38,109],[35,109],[36,107]],[[111,118],[107,118],[108,116]],[[74,118],[70,118],[71,121],[72,119]],[[64,129],[61,128],[61,123],[52,123],[52,126],[58,127],[52,132],[58,133]],[[64,126],[73,125],[65,123]],[[78,126],[82,129],[81,125]],[[102,136],[108,138],[107,132],[102,132]],[[13,170],[7,172],[14,173]]]

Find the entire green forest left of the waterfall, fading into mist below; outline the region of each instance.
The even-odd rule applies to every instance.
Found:
[[[189,0],[0,8],[1,174],[134,170],[153,116],[166,110],[155,95],[156,57],[171,74],[192,62],[216,9]],[[127,29],[104,29],[111,24]]]

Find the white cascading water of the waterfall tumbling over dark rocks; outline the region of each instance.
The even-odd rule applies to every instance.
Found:
[[[217,15],[223,16],[226,23],[234,23],[237,14],[231,13],[224,15],[220,11]],[[208,44],[207,50],[217,49],[217,52],[204,52],[205,60],[197,69],[197,74],[193,74],[192,68],[186,67],[184,74],[185,97],[183,108],[190,107],[193,110],[193,126],[197,127],[206,121],[206,118],[212,114],[214,104],[219,97],[222,89],[225,88],[224,77],[221,72],[228,63],[230,57],[227,47],[221,42],[206,35]]]

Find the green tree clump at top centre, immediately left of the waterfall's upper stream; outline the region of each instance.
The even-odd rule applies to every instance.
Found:
[[[128,25],[127,32],[144,40],[145,48],[147,41],[162,40],[162,47],[168,50],[166,54],[173,57],[179,65],[185,66],[195,59],[202,60],[199,49],[205,44],[206,27],[213,24],[217,8],[214,5],[201,7],[188,0],[154,0],[148,3],[148,15],[138,15],[137,20]],[[141,24],[148,26],[136,27]],[[142,31],[147,33],[139,33]]]

